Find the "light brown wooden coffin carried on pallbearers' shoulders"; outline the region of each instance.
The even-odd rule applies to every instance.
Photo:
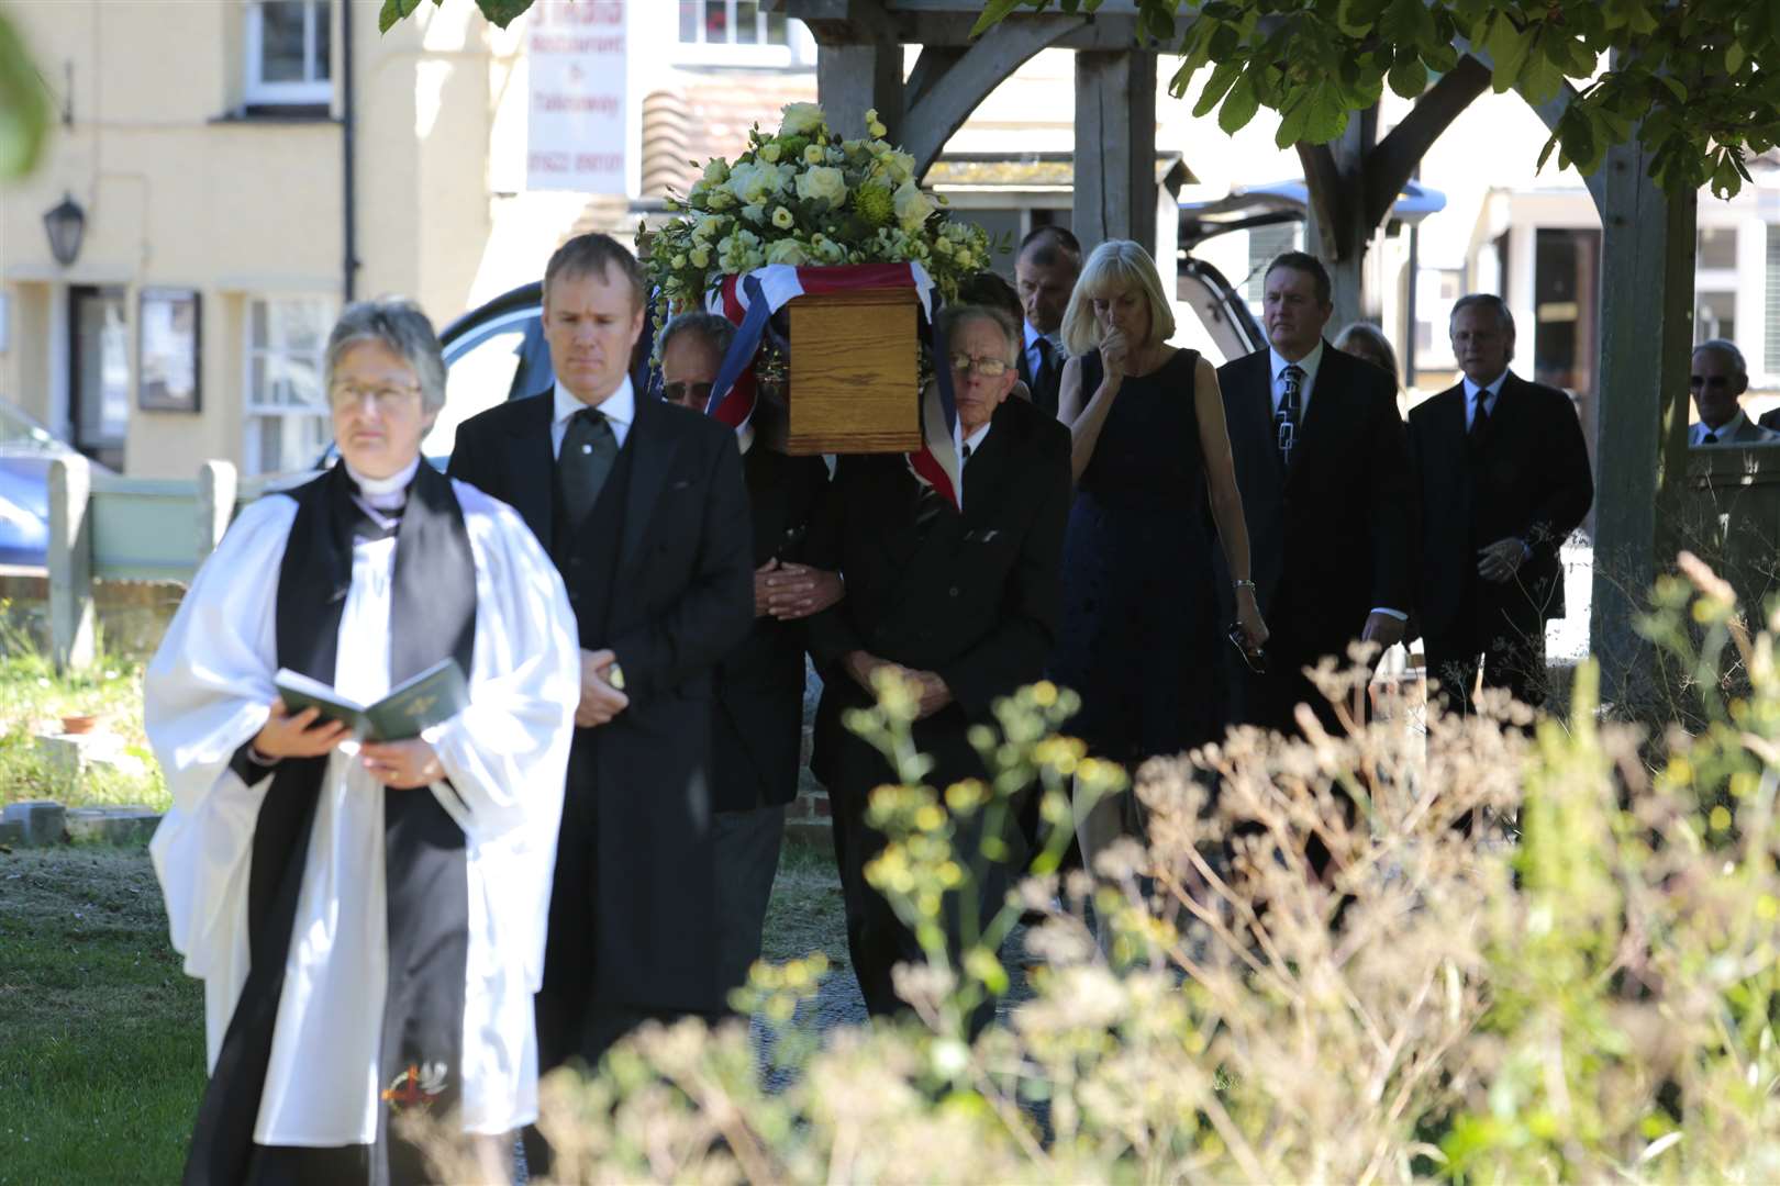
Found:
[[[920,448],[913,288],[797,297],[783,407],[762,425],[792,455],[908,453]]]

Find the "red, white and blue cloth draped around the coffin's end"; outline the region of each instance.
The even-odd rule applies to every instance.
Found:
[[[796,297],[819,297],[838,292],[870,288],[913,288],[920,302],[920,320],[933,336],[933,356],[938,382],[922,395],[920,430],[926,445],[908,453],[915,477],[943,494],[954,509],[963,510],[961,441],[958,434],[958,404],[952,398],[952,372],[945,365],[945,343],[938,333],[938,293],[933,279],[918,263],[854,263],[844,267],[792,267],[773,263],[744,276],[726,276],[723,284],[707,297],[707,308],[735,324],[735,341],[730,343],[710,386],[707,414],[737,432],[753,418],[758,386],[755,382],[755,354],[765,334],[767,322]]]

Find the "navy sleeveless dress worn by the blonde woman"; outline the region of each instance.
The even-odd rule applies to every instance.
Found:
[[[1082,471],[1063,546],[1052,677],[1082,697],[1066,729],[1136,770],[1223,731],[1223,631],[1212,519],[1193,405],[1194,350],[1127,377]],[[1082,393],[1100,386],[1098,350]]]

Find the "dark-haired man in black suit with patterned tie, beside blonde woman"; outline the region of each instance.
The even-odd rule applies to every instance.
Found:
[[[1267,267],[1271,347],[1218,370],[1266,670],[1237,665],[1234,717],[1296,731],[1296,706],[1335,715],[1305,667],[1347,665],[1355,640],[1403,640],[1410,608],[1410,459],[1396,381],[1323,340],[1335,306],[1323,261],[1290,251]]]

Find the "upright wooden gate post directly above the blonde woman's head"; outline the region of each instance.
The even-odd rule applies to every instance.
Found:
[[[1132,238],[1155,252],[1155,53],[1075,55],[1075,210],[1084,249]]]

